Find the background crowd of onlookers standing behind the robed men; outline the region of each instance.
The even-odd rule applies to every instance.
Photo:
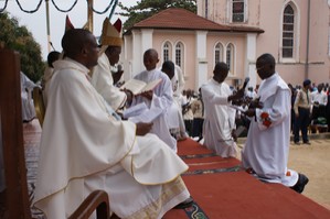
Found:
[[[203,86],[202,86],[203,87]],[[291,84],[288,84],[288,87],[291,90],[291,122],[290,122],[290,131],[294,135],[294,143],[296,145],[300,145],[300,141],[302,144],[309,145],[309,133],[322,133],[330,132],[330,86],[329,84],[320,83],[316,85],[311,83],[311,80],[306,79],[301,83],[301,85],[296,85],[295,87]],[[246,136],[249,128],[251,119],[244,113],[245,110],[248,109],[249,105],[257,100],[258,97],[259,85],[256,87],[249,86],[246,90],[244,90],[244,96],[238,100],[238,102],[234,101],[233,105],[236,106],[234,108],[235,112],[232,119],[234,118],[233,128],[243,127],[244,130],[239,132],[239,136]],[[230,86],[230,94],[236,94],[238,88]],[[198,127],[192,125],[192,123],[200,116],[195,114],[193,111],[193,105],[195,100],[198,100],[202,94],[199,91],[194,91],[191,89],[183,90],[182,92],[182,108],[183,108],[183,117],[185,118],[184,124],[187,127],[188,134],[192,138],[198,135],[194,134],[194,131],[201,129],[200,123]],[[210,100],[205,98],[206,101]],[[203,101],[201,101],[203,103]],[[202,105],[201,111],[203,111],[203,116],[199,120],[204,120],[204,108],[206,106]],[[232,108],[233,109],[233,108]],[[231,109],[231,110],[232,110]],[[231,111],[228,110],[228,111]],[[226,111],[226,112],[228,112]],[[224,113],[221,113],[222,116]],[[201,139],[203,135],[201,136]],[[200,141],[200,139],[199,139]]]

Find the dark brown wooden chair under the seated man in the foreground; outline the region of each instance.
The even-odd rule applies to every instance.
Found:
[[[20,88],[19,54],[0,48],[0,174],[6,183],[0,190],[0,218],[31,219]],[[2,172],[3,171],[3,172]],[[95,190],[70,217],[87,219],[96,210],[97,218],[109,218],[107,193]]]

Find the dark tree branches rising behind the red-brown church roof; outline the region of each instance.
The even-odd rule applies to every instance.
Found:
[[[123,6],[121,2],[118,3],[118,7],[124,11],[118,14],[128,17],[124,23],[124,29],[128,30],[134,24],[168,8],[183,8],[195,13],[196,0],[141,0],[137,6],[130,8]]]

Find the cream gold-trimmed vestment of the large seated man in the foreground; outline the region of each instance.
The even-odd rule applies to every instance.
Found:
[[[43,123],[34,206],[47,219],[67,218],[93,190],[106,190],[120,218],[161,218],[190,195],[184,162],[155,134],[116,120],[70,58],[54,63]]]

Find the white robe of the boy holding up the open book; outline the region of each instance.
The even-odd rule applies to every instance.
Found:
[[[151,133],[155,133],[159,136],[164,143],[167,143],[173,151],[177,152],[177,140],[171,136],[169,131],[169,125],[167,121],[167,110],[171,107],[173,102],[173,91],[172,91],[172,84],[169,77],[162,73],[159,69],[153,70],[143,70],[140,74],[135,76],[135,79],[142,80],[145,83],[150,83],[152,80],[156,80],[158,78],[161,78],[161,83],[153,89],[153,96],[152,100],[148,100],[145,97],[137,96],[132,100],[132,106],[146,102],[148,107],[151,107],[151,105],[159,107],[163,110],[163,113],[158,117],[156,120],[153,120],[153,125]]]

